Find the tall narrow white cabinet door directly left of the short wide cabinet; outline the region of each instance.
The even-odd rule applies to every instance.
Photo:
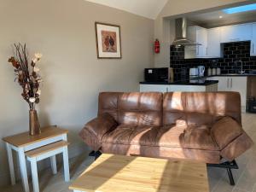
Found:
[[[220,28],[207,30],[207,57],[220,57]]]

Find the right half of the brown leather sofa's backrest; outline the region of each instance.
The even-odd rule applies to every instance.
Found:
[[[241,125],[241,101],[237,92],[170,92],[164,94],[163,125],[183,122],[209,125],[230,116]]]

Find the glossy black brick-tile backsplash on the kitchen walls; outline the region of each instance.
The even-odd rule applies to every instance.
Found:
[[[171,46],[170,67],[174,70],[174,79],[184,79],[184,71],[189,78],[189,68],[203,65],[206,67],[219,67],[221,73],[238,73],[241,70],[241,64],[236,61],[243,62],[243,70],[248,73],[249,70],[256,69],[256,56],[250,56],[250,41],[234,42],[222,44],[223,57],[211,59],[184,59],[184,47]]]

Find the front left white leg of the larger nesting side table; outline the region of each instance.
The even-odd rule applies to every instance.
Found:
[[[22,179],[23,188],[24,188],[25,192],[29,192],[24,148],[19,148],[19,152],[18,153],[19,153],[20,173],[21,173],[21,179]]]

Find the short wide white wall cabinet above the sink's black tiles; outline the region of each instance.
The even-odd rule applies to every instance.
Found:
[[[221,43],[249,41],[252,39],[252,24],[241,24],[235,26],[222,26]]]

